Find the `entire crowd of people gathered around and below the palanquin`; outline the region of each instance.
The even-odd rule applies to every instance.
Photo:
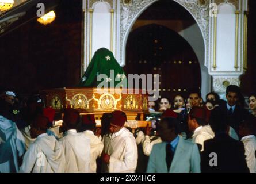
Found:
[[[94,114],[56,113],[37,97],[19,101],[2,90],[0,173],[255,173],[256,94],[250,110],[235,85],[226,100],[214,92],[205,99],[190,90],[188,98],[148,102],[151,123],[132,131],[120,110],[104,113],[97,127]]]

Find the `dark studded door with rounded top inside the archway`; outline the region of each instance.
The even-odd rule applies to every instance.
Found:
[[[173,30],[158,24],[137,28],[129,34],[126,49],[127,74],[158,74],[160,97],[201,87],[197,56]]]

